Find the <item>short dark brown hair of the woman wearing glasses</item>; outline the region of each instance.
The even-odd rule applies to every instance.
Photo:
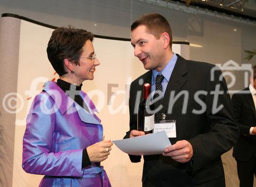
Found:
[[[52,32],[47,46],[47,55],[52,67],[60,76],[68,73],[64,68],[64,59],[79,65],[79,56],[87,40],[93,41],[91,32],[71,26],[60,27]]]

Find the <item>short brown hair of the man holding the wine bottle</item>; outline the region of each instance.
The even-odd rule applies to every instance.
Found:
[[[169,45],[172,48],[172,29],[170,29],[170,24],[165,17],[156,13],[143,15],[142,17],[134,21],[134,23],[131,25],[131,31],[134,31],[140,25],[145,25],[147,28],[147,32],[153,34],[156,39],[159,39],[162,33],[168,33],[170,37]]]

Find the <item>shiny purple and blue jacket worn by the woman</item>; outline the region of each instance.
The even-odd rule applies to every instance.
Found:
[[[100,163],[81,168],[82,150],[102,139],[95,105],[80,91],[89,112],[47,82],[27,116],[23,138],[23,169],[45,175],[39,186],[111,186]]]

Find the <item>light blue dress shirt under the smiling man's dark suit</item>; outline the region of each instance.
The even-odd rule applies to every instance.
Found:
[[[162,87],[163,87],[163,95],[165,93],[167,84],[169,82],[170,79],[170,75],[172,75],[173,70],[174,70],[174,66],[176,64],[178,57],[177,55],[174,53],[172,59],[169,60],[168,64],[164,67],[164,69],[160,72],[158,72],[156,69],[153,69],[153,74],[152,74],[152,80],[151,80],[151,93],[152,93],[152,98],[153,95],[155,93],[156,90],[156,76],[161,73],[164,76],[164,79],[162,81]]]

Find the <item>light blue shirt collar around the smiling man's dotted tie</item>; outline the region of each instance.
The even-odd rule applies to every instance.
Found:
[[[169,82],[170,75],[172,75],[172,72],[174,70],[174,66],[176,64],[178,57],[174,53],[173,57],[169,60],[167,65],[163,68],[162,71],[158,72],[156,69],[153,69],[153,84],[155,84],[156,76],[161,73],[164,76],[164,80],[166,82]]]

